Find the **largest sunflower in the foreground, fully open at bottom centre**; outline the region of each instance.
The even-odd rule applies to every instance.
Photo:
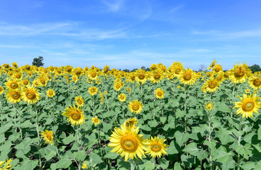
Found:
[[[123,125],[121,128],[114,128],[111,137],[109,137],[110,144],[109,147],[113,148],[111,152],[116,152],[124,157],[125,162],[128,159],[143,159],[145,145],[143,140],[143,135],[138,134],[138,128],[132,128],[127,130]]]

